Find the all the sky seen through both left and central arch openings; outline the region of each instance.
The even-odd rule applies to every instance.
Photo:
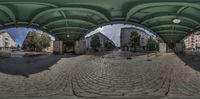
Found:
[[[88,33],[85,37],[101,32],[104,35],[106,35],[109,39],[111,39],[115,43],[116,46],[120,46],[120,32],[121,32],[121,28],[124,28],[124,27],[133,27],[139,30],[143,30],[150,35],[153,35],[153,33],[151,33],[150,31],[142,27],[137,27],[134,25],[114,24],[114,25],[106,25],[103,27],[99,27],[96,30]],[[43,33],[43,31],[41,30],[37,30],[33,28],[25,28],[25,27],[9,28],[9,29],[1,30],[0,32],[8,32],[10,36],[13,38],[13,40],[21,46],[23,44],[24,39],[26,38],[26,35],[30,31],[36,31],[37,33],[40,33],[40,34]],[[53,36],[50,36],[50,37],[52,40],[55,40]]]

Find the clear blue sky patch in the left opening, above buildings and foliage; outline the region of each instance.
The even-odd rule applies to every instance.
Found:
[[[36,31],[37,33],[42,34],[43,32],[41,30],[33,29],[33,28],[25,28],[25,27],[17,27],[17,28],[8,28],[3,29],[0,32],[8,32],[10,36],[13,38],[13,40],[18,44],[22,45],[24,42],[24,39],[26,38],[28,32],[30,31]],[[54,40],[54,37],[50,36],[52,40]]]

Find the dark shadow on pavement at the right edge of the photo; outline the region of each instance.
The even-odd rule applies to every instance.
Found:
[[[185,62],[186,65],[200,72],[200,56],[188,54],[177,54],[177,56]]]

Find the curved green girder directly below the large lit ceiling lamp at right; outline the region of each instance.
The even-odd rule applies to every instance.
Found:
[[[183,25],[179,25],[179,24],[158,25],[158,26],[151,27],[150,29],[159,29],[159,28],[162,28],[162,27],[179,27],[179,28],[184,28],[184,29],[188,29],[188,30],[192,30],[193,29],[191,27],[187,27],[187,26],[183,26]]]

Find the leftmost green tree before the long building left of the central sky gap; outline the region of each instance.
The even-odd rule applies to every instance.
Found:
[[[101,47],[100,38],[98,35],[94,35],[90,41],[91,47],[97,51],[97,48]]]

